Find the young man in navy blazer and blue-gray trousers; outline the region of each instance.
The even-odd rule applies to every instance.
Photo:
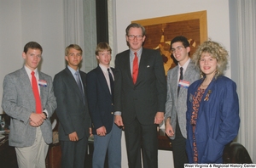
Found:
[[[86,88],[94,134],[93,168],[104,168],[108,150],[108,167],[121,167],[122,130],[113,123],[113,69],[109,67],[111,48],[107,42],[96,47],[96,69],[87,74]]]

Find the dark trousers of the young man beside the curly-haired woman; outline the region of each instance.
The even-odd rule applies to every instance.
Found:
[[[183,168],[185,163],[188,163],[188,156],[186,153],[186,139],[180,132],[178,120],[176,124],[175,139],[171,139],[172,154],[175,168]]]

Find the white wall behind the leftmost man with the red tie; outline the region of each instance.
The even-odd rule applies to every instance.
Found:
[[[0,103],[3,78],[22,67],[26,42],[43,47],[44,73],[54,77],[65,67],[63,16],[62,0],[0,0]]]

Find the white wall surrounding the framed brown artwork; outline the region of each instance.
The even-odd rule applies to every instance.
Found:
[[[230,51],[230,18],[228,0],[119,0],[116,1],[116,30],[118,53],[127,49],[125,28],[132,20],[144,20],[173,14],[207,10],[208,37],[221,42]],[[226,71],[230,76],[230,68]],[[124,135],[123,135],[124,137]],[[128,167],[125,139],[122,138],[122,167]],[[172,152],[159,150],[159,167],[173,167]]]

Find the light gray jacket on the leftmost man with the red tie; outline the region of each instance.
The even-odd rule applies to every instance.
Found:
[[[39,80],[47,82],[47,86],[40,86],[40,98],[43,109],[48,112],[48,119],[40,126],[45,143],[52,143],[52,128],[49,117],[57,106],[52,79],[39,72]],[[30,126],[29,117],[35,111],[35,99],[31,81],[25,68],[16,70],[4,77],[2,108],[11,117],[9,145],[15,147],[29,147],[35,142],[36,127]],[[42,110],[43,110],[42,109]]]

